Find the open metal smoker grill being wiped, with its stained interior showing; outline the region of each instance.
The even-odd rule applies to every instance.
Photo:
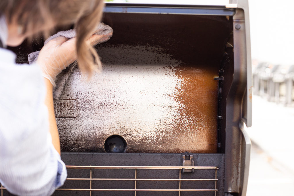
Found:
[[[54,103],[70,178],[54,195],[246,195],[251,143],[245,129],[252,108],[247,1],[107,4],[104,22],[114,29],[111,40],[97,46],[104,72],[87,84],[76,70]],[[31,52],[14,50],[20,62]],[[111,92],[114,86],[119,94]],[[106,118],[107,125],[99,124]],[[126,153],[105,153],[111,135],[123,136]]]

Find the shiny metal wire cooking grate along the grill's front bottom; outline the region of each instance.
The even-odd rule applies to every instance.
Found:
[[[88,183],[88,187],[89,188],[76,188],[76,187],[66,187],[66,188],[59,188],[57,190],[59,191],[86,191],[89,192],[90,196],[92,195],[92,192],[98,192],[98,191],[123,191],[123,192],[133,192],[134,195],[137,194],[137,192],[162,192],[162,191],[168,191],[168,192],[178,192],[179,195],[181,195],[181,192],[215,192],[214,195],[217,194],[217,170],[218,167],[200,167],[200,166],[193,166],[193,167],[184,167],[184,166],[73,166],[73,165],[68,165],[66,166],[66,168],[68,170],[74,170],[74,172],[78,171],[78,170],[88,170],[88,175],[89,177],[84,178],[84,177],[77,177],[77,178],[67,178],[66,182],[69,181],[80,181],[80,182],[87,182]],[[203,178],[182,178],[183,174],[182,174],[182,170],[186,169],[186,170],[191,170],[194,169],[195,173],[199,172],[200,170],[206,170],[206,171],[212,171],[213,172],[213,176],[214,178],[210,178],[210,179],[203,179]],[[93,177],[93,171],[97,171],[97,170],[133,170],[134,175],[133,177],[129,178],[95,178]],[[178,178],[138,178],[138,171],[142,171],[142,170],[178,170]],[[214,171],[213,171],[214,170]],[[95,171],[95,172],[96,172]],[[97,173],[97,172],[96,172]],[[99,172],[100,173],[100,172]],[[214,175],[215,174],[215,175]],[[212,175],[210,175],[212,176]],[[95,181],[109,181],[109,182],[113,182],[113,181],[122,181],[122,182],[132,182],[132,186],[133,188],[107,188],[107,189],[102,189],[102,188],[93,188],[93,182]],[[138,182],[140,181],[144,181],[144,182],[151,182],[151,181],[156,181],[156,182],[168,182],[168,181],[173,181],[173,182],[177,182],[178,183],[178,188],[177,189],[152,189],[152,188],[147,188],[147,189],[142,189],[142,188],[138,188]],[[202,188],[181,188],[181,184],[183,184],[184,182],[193,182],[194,184],[196,182],[209,182],[210,185],[204,186]],[[213,187],[210,188],[209,187]],[[3,190],[6,189],[4,187],[2,187],[1,185],[1,196],[3,196]]]

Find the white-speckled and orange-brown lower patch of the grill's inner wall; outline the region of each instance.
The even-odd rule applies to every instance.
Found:
[[[61,149],[104,152],[121,135],[127,152],[216,153],[217,81],[151,46],[99,48],[104,64],[90,81],[76,69],[62,99],[77,100],[76,118],[56,118]]]

